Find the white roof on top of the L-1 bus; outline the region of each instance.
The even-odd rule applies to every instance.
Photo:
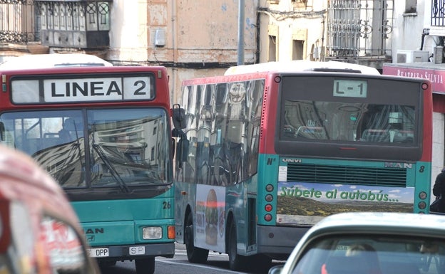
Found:
[[[237,65],[228,68],[224,75],[237,75],[245,73],[259,73],[265,71],[301,72],[301,71],[330,71],[347,73],[363,73],[380,75],[379,70],[366,65],[357,65],[337,61],[314,62],[309,60],[291,60],[285,62],[267,62],[252,65]]]

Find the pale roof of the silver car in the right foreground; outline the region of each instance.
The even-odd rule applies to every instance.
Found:
[[[445,238],[445,216],[396,212],[347,212],[316,223],[307,236],[332,233],[386,233]]]

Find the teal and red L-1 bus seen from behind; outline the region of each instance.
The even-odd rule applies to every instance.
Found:
[[[292,61],[184,80],[182,93],[175,231],[190,262],[217,251],[238,270],[287,258],[330,214],[429,211],[428,80]]]

